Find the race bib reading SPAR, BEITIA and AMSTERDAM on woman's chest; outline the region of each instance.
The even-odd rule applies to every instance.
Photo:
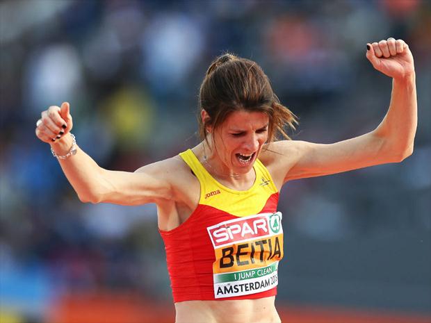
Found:
[[[262,213],[207,228],[213,243],[216,299],[255,294],[278,284],[283,258],[282,213]]]

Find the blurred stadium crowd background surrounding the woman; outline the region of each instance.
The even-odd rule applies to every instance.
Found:
[[[173,322],[154,205],[82,204],[40,112],[71,103],[99,165],[133,171],[197,138],[197,93],[223,51],[256,60],[300,117],[294,139],[371,131],[389,78],[365,58],[389,36],[414,53],[419,124],[400,164],[288,183],[284,322],[431,322],[430,1],[0,2],[0,322]]]

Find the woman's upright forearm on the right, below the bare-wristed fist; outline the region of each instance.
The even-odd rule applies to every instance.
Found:
[[[412,154],[417,126],[416,80],[412,73],[393,78],[391,103],[387,115],[374,133],[384,139],[382,154],[395,161]]]

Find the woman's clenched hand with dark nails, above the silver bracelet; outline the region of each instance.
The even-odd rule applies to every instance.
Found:
[[[43,142],[53,144],[72,130],[73,122],[68,102],[63,102],[61,107],[50,106],[41,116],[36,122],[36,136]]]

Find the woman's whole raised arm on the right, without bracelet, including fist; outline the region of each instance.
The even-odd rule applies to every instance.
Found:
[[[285,181],[323,176],[352,169],[396,163],[412,154],[417,101],[412,53],[402,40],[389,38],[367,44],[366,57],[378,71],[393,78],[387,115],[374,131],[334,144],[282,141],[268,154]]]

